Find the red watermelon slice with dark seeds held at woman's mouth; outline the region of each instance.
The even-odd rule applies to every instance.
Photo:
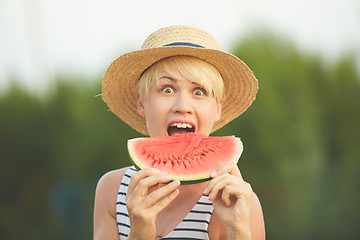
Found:
[[[156,168],[173,180],[191,184],[211,179],[210,173],[227,163],[237,163],[243,145],[235,136],[186,133],[130,139],[128,151],[138,170]]]

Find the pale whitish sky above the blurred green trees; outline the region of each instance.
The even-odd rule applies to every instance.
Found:
[[[201,28],[225,51],[264,29],[325,59],[352,52],[360,66],[358,0],[0,0],[0,92],[14,78],[35,92],[58,74],[101,78],[169,25]]]

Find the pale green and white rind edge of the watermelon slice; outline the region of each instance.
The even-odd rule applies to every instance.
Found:
[[[148,167],[148,166],[145,166],[144,164],[142,164],[140,161],[137,161],[136,156],[134,156],[134,154],[133,154],[136,151],[133,150],[133,148],[132,148],[132,146],[133,146],[132,142],[140,140],[140,139],[143,139],[143,138],[135,138],[135,139],[128,140],[128,152],[129,152],[129,155],[130,155],[130,160],[131,160],[132,164],[134,165],[134,167],[138,171]],[[230,158],[228,163],[234,162],[235,164],[237,164],[238,161],[239,161],[239,158],[240,158],[240,156],[241,156],[241,154],[243,152],[243,144],[241,142],[241,139],[238,138],[238,137],[234,137],[234,141],[235,141],[235,145],[236,145],[235,149],[237,149],[237,151],[234,152],[233,157]],[[213,170],[216,170],[216,169],[213,169]],[[172,181],[173,180],[179,180],[182,185],[189,185],[189,184],[206,182],[206,181],[209,181],[211,179],[212,179],[212,177],[210,176],[210,173],[209,173],[209,174],[206,174],[206,175],[197,175],[197,176],[196,175],[178,176],[178,177],[173,177],[171,180]]]

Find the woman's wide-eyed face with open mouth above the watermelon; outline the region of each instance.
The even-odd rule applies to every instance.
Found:
[[[180,74],[161,72],[155,86],[141,101],[138,113],[146,118],[151,137],[171,136],[187,132],[211,133],[220,119],[221,103],[200,84]]]

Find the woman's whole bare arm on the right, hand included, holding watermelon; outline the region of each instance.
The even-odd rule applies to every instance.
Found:
[[[265,227],[260,201],[235,164],[213,174],[205,194],[210,194],[215,214],[210,221],[211,239],[264,240]],[[215,231],[216,230],[216,231]],[[221,234],[219,234],[221,233]]]

